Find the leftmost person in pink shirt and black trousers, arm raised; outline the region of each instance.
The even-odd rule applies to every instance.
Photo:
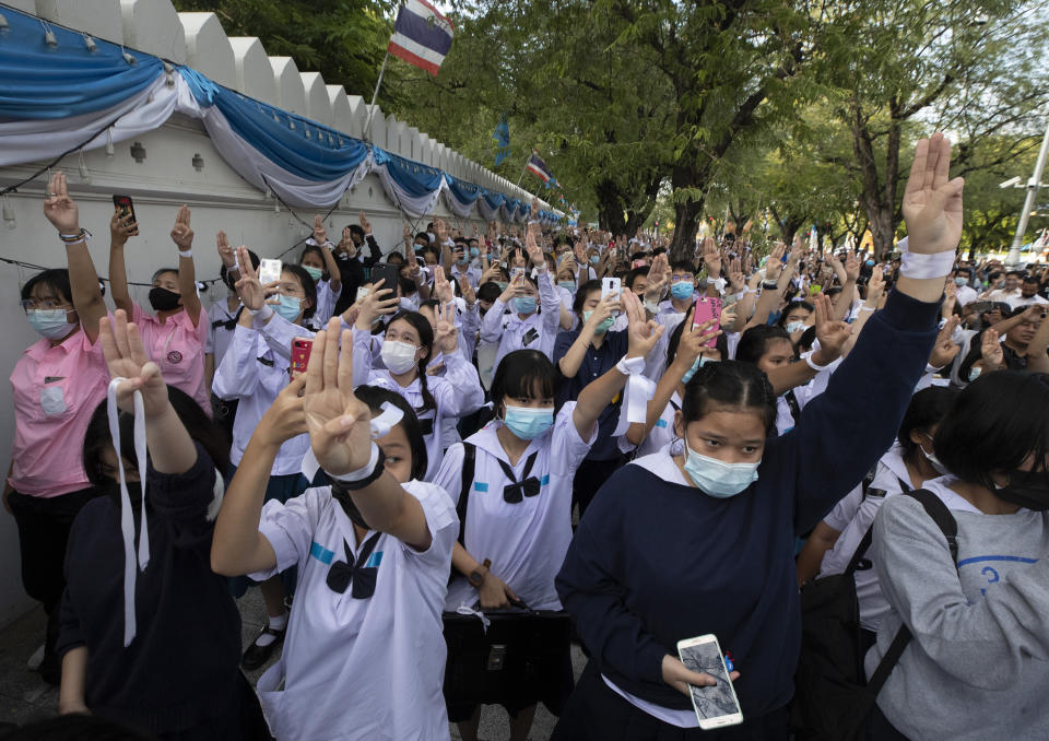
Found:
[[[106,305],[64,173],[51,177],[44,215],[64,243],[69,268],[45,270],[22,286],[22,308],[40,339],[11,373],[14,440],[3,506],[19,528],[22,585],[48,618],[44,646],[31,666],[58,684],[55,644],[66,544],[76,513],[96,495],[80,449],[91,415],[106,397],[109,374],[97,342]]]

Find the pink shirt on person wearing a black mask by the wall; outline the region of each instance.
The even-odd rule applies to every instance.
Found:
[[[204,384],[204,344],[208,342],[208,315],[201,310],[197,326],[185,310],[161,320],[132,302],[132,320],[142,334],[145,354],[161,366],[164,381],[181,389],[211,416],[211,397]]]

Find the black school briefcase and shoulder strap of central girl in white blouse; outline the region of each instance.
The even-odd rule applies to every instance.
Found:
[[[463,442],[462,447],[462,489],[456,505],[460,544],[476,469],[476,446]],[[457,576],[452,567],[449,583]],[[484,618],[487,624],[474,614],[443,615],[448,647],[444,693],[449,708],[500,704],[516,713],[542,701],[559,715],[573,690],[571,669],[565,660],[568,613],[532,610],[519,601],[506,610],[488,610]]]

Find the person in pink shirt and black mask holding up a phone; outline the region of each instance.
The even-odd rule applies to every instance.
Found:
[[[161,366],[167,383],[186,391],[210,415],[211,396],[204,381],[208,321],[201,321],[197,269],[193,267],[193,231],[189,225],[189,207],[181,207],[172,227],[172,242],[178,250],[178,268],[161,268],[153,273],[150,306],[155,315],[146,314],[128,292],[123,246],[132,233],[127,230],[110,228],[109,287],[117,308],[127,311],[139,327],[145,352]]]

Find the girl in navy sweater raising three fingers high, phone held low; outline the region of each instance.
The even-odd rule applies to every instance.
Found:
[[[801,640],[794,534],[888,448],[924,372],[962,234],[963,180],[948,180],[950,164],[942,134],[919,141],[896,289],[791,432],[773,432],[776,396],[756,366],[708,363],[675,413],[681,454],[638,458],[599,492],[556,580],[591,660],[555,741],[788,738]],[[679,640],[706,634],[741,673],[743,724],[717,731],[696,728],[689,702],[688,685],[712,679],[676,656]]]

